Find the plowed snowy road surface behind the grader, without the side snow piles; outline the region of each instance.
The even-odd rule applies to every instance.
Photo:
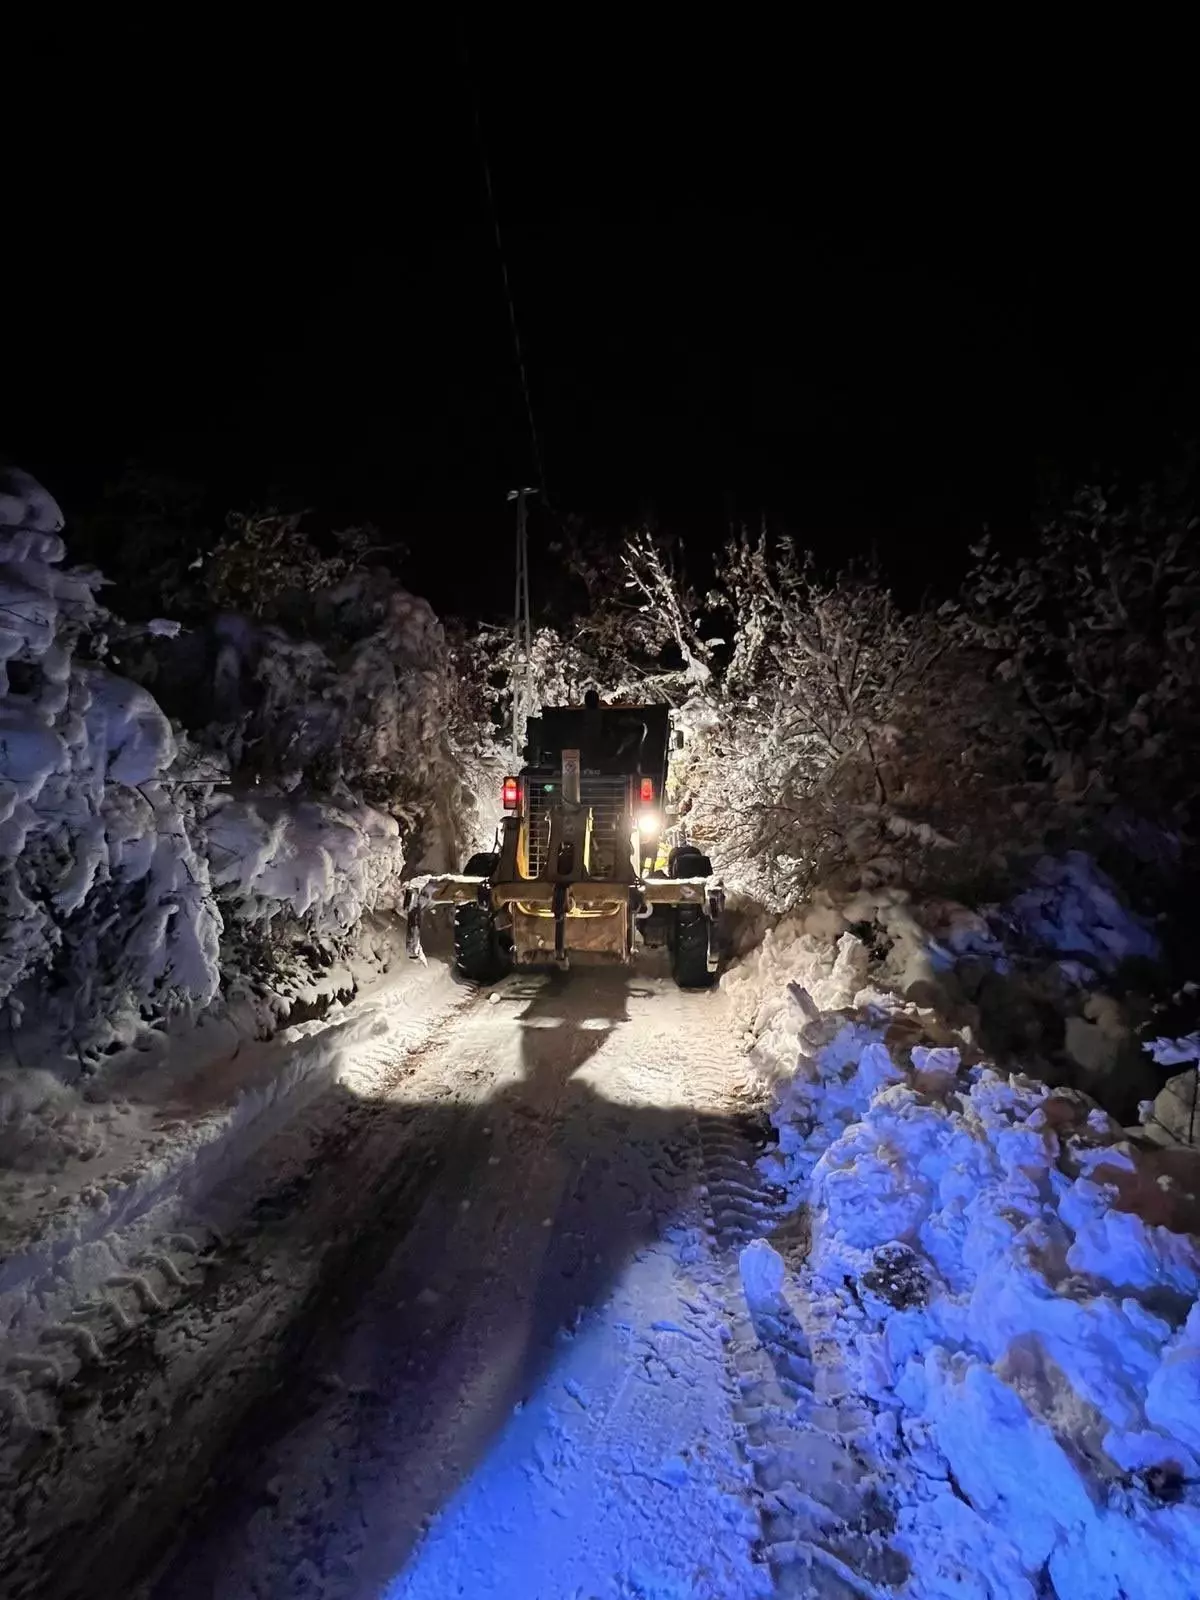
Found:
[[[195,1200],[200,1266],[29,1442],[8,1592],[774,1592],[723,997],[430,981],[342,1026],[338,1082]]]

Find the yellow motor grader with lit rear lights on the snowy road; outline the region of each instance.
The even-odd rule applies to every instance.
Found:
[[[531,717],[525,765],[504,779],[498,848],[410,885],[410,955],[426,912],[450,904],[454,958],[475,982],[512,966],[626,963],[664,944],[680,987],[712,984],[725,896],[707,856],[666,846],[669,742],[664,706],[589,694]]]

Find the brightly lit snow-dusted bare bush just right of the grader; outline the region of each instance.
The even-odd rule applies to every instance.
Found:
[[[638,627],[680,662],[645,680],[688,734],[688,837],[726,883],[786,910],[830,872],[874,882],[995,870],[1026,810],[1010,691],[946,611],[906,613],[870,573],[818,578],[787,541],[742,534],[702,608],[648,534],[622,574]],[[645,686],[645,685],[643,685]]]

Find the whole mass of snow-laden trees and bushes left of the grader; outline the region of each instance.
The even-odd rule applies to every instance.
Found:
[[[139,1022],[210,1003],[250,952],[285,962],[338,938],[395,904],[408,862],[458,866],[480,842],[477,794],[498,779],[482,782],[486,741],[445,634],[365,565],[362,538],[315,568],[293,528],[286,562],[242,597],[254,616],[206,619],[195,602],[187,627],[131,626],[98,603],[96,571],[62,566],[53,499],[10,478],[0,1002],[18,1024],[37,994],[26,1054],[94,1061]],[[251,568],[232,549],[214,563],[230,586]],[[288,587],[298,574],[307,587]]]

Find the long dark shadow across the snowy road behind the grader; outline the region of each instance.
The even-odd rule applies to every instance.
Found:
[[[315,1286],[216,1427],[158,1482],[150,1426],[147,1454],[109,1486],[107,1515],[86,1530],[86,1554],[77,1546],[66,1568],[54,1563],[58,1581],[38,1594],[72,1600],[149,1581],[154,1600],[214,1600],[237,1590],[251,1546],[272,1538],[307,1547],[320,1568],[320,1528],[306,1530],[302,1504],[278,1499],[275,1480],[286,1498],[298,1462],[333,1480],[328,1506],[360,1525],[355,1592],[397,1579],[429,1520],[538,1390],[562,1331],[606,1301],[694,1190],[688,1107],[610,1101],[579,1077],[629,1021],[637,979],[573,982],[587,984],[587,1016],[570,982],[502,992],[501,1005],[520,1005],[522,1075],[490,1099],[469,1110],[370,1102],[373,1147],[394,1142],[370,1178],[358,1181],[346,1149],[307,1184],[259,1202],[258,1232],[278,1234],[274,1269],[286,1277],[296,1218],[338,1186]],[[187,1410],[182,1397],[157,1419],[160,1432],[187,1429]],[[195,1510],[181,1515],[192,1494]],[[251,1526],[256,1512],[266,1526],[262,1517]]]

